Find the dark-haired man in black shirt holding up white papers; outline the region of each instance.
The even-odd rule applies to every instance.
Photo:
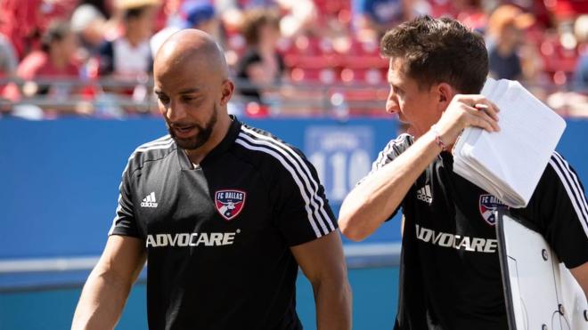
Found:
[[[396,329],[507,329],[495,219],[485,212],[502,202],[453,173],[451,154],[465,127],[499,130],[499,109],[479,94],[484,40],[425,16],[388,31],[381,52],[390,59],[386,109],[409,129],[346,197],[339,226],[361,240],[402,206]],[[541,229],[586,292],[588,205],[565,159],[554,152],[530,203],[510,211]]]

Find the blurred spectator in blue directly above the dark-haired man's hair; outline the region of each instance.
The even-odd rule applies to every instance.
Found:
[[[364,42],[379,42],[388,29],[429,11],[421,0],[352,0],[355,34]]]

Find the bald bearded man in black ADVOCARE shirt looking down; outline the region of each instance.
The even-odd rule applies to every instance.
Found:
[[[337,222],[304,155],[227,114],[234,85],[206,33],[170,36],[154,61],[169,135],[135,149],[72,328],[116,325],[147,269],[151,329],[302,329],[298,266],[319,329],[349,329]]]

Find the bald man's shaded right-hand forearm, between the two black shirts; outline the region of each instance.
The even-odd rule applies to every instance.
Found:
[[[318,330],[351,329],[351,289],[347,280],[323,280],[313,289]]]

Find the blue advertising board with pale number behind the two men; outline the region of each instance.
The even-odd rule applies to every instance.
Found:
[[[305,152],[335,214],[377,153],[396,137],[397,128],[395,121],[383,118],[246,122]],[[584,182],[586,125],[568,120],[558,146]],[[100,254],[128,156],[165,133],[159,118],[0,120],[0,260]],[[399,221],[388,221],[365,242],[399,239]]]

